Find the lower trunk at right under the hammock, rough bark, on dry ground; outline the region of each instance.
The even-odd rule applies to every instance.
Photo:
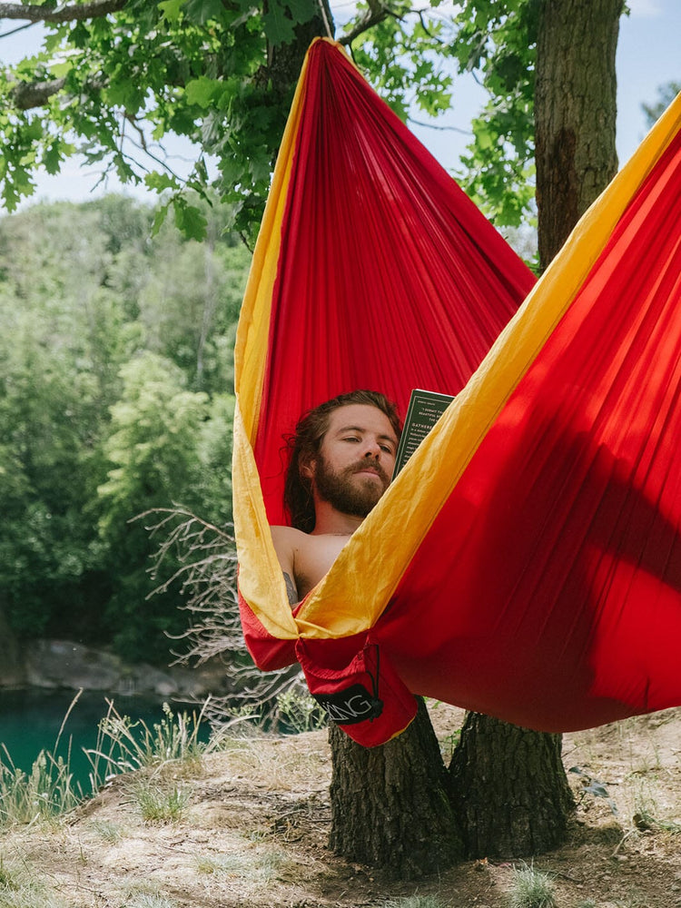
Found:
[[[563,842],[574,801],[560,735],[468,713],[449,765],[466,856],[521,857]]]

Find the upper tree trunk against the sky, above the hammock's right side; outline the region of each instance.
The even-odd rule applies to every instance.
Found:
[[[617,173],[622,0],[540,0],[535,84],[539,262],[546,268]]]

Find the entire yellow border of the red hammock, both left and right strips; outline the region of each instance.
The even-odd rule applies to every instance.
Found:
[[[245,327],[240,321],[237,339],[237,350],[241,352],[237,359],[233,488],[240,587],[263,627],[280,639],[346,637],[375,624],[481,439],[568,310],[628,202],[666,149],[681,120],[679,95],[637,153],[581,218],[467,387],[293,619],[271,543],[252,439],[262,394],[271,290],[279,258],[281,218],[300,116],[302,82],[301,76],[253,260],[242,316]],[[257,258],[259,250],[262,253]],[[252,353],[257,355],[244,355],[246,331]],[[254,343],[253,337],[259,337],[260,342]],[[242,407],[248,419],[244,419]],[[400,515],[399,520],[394,519],[395,514]]]

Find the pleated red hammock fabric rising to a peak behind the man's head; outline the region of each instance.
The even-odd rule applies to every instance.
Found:
[[[255,459],[270,522],[282,438],[358,388],[402,413],[456,394],[535,282],[527,266],[333,44],[313,44],[281,227]]]

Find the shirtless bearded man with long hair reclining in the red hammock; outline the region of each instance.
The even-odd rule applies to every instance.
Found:
[[[324,577],[388,488],[400,431],[395,405],[368,390],[327,400],[298,422],[284,488],[292,526],[271,528],[291,605]]]

